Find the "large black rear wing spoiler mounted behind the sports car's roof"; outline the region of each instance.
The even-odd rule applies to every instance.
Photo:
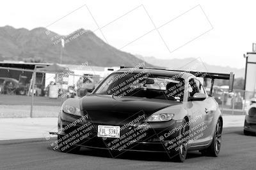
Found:
[[[123,69],[123,68],[131,68],[131,67],[120,66],[120,69]],[[159,68],[139,67],[139,69],[159,69]],[[209,72],[200,72],[200,71],[182,71],[182,70],[175,70],[175,69],[159,69],[159,70],[184,72],[184,73],[193,74],[196,77],[211,78],[211,90],[210,90],[209,96],[212,96],[212,89],[213,89],[215,79],[229,80],[228,92],[233,91],[234,77],[235,77],[235,74],[233,72],[230,72],[229,74],[224,74],[224,73],[209,73]]]

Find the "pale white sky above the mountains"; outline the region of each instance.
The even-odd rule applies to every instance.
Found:
[[[0,27],[90,29],[109,45],[158,59],[200,57],[241,68],[256,43],[256,1],[1,1]]]

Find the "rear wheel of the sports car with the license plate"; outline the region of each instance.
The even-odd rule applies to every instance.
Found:
[[[221,148],[221,132],[222,132],[222,122],[220,118],[217,121],[216,128],[214,131],[214,136],[211,145],[206,150],[201,150],[200,152],[204,155],[210,157],[218,157]]]

